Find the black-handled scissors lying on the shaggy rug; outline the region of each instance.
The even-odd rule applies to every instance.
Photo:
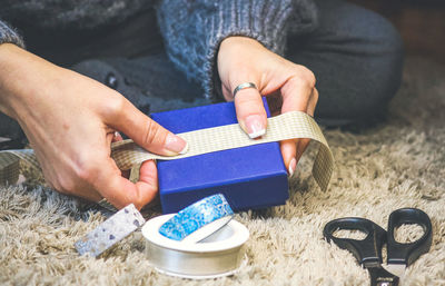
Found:
[[[413,243],[397,243],[394,231],[404,224],[419,225],[424,235]],[[339,229],[360,230],[366,237],[363,240],[335,237],[334,231]],[[400,208],[389,215],[388,231],[366,218],[345,217],[326,224],[323,234],[327,241],[332,240],[338,247],[354,254],[358,263],[368,269],[372,286],[397,286],[405,268],[429,250],[433,228],[428,215],[424,211],[416,208]],[[385,244],[388,264],[386,268],[392,273],[382,267],[382,247]]]

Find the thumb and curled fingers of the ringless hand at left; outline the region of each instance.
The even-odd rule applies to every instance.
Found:
[[[188,149],[182,138],[151,120],[119,93],[115,93],[115,98],[105,103],[101,115],[107,127],[126,134],[151,152],[175,156]],[[120,135],[110,134],[110,141],[118,140],[121,140]],[[157,168],[151,160],[141,165],[139,181],[136,184],[122,177],[111,157],[102,160],[96,174],[95,180],[90,180],[93,181],[93,188],[117,208],[135,204],[140,209],[151,201],[158,191]]]

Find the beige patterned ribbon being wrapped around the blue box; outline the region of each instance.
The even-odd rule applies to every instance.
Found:
[[[313,166],[313,176],[323,190],[327,189],[334,170],[334,157],[320,128],[310,116],[300,111],[268,118],[267,132],[259,139],[250,139],[238,124],[178,134],[178,136],[189,146],[184,155],[174,157],[155,155],[137,146],[132,140],[123,140],[111,145],[111,157],[121,170],[128,170],[149,159],[174,160],[257,144],[310,138],[320,144]],[[32,149],[0,151],[0,184],[17,181],[18,158],[30,167],[39,168]]]

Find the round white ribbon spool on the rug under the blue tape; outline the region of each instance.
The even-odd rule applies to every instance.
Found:
[[[172,216],[152,218],[142,227],[148,259],[158,272],[206,279],[231,275],[246,263],[244,245],[249,238],[249,230],[240,223],[233,219],[206,239],[192,244],[159,234],[159,227]]]

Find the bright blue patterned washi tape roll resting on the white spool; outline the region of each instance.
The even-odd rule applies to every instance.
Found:
[[[217,194],[180,210],[160,226],[159,233],[174,240],[197,243],[225,226],[233,216],[225,196]]]

